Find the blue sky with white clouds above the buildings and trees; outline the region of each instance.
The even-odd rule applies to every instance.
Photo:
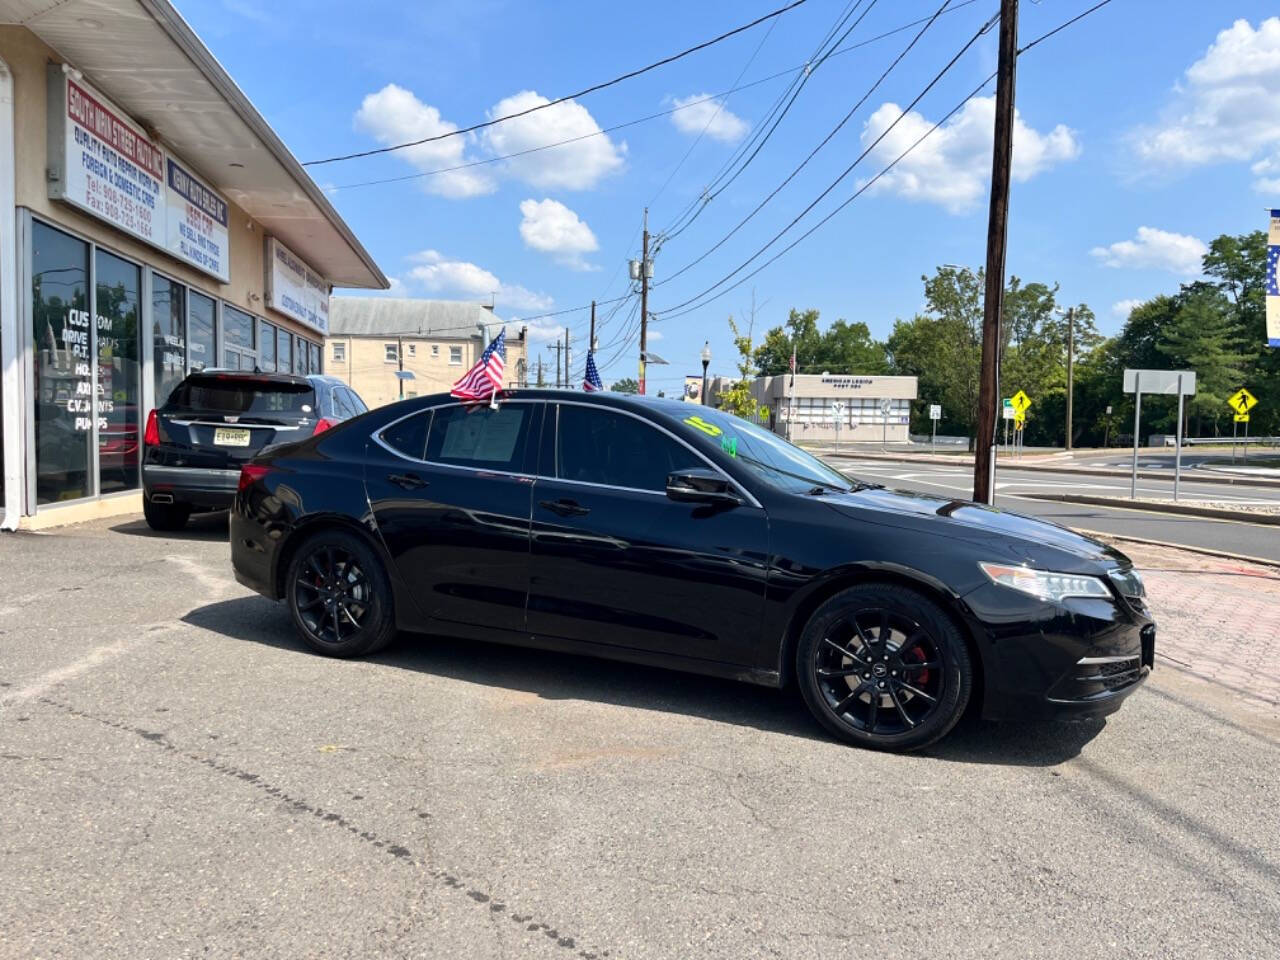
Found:
[[[937,9],[941,0],[863,0],[846,45]],[[402,4],[366,0],[178,0],[210,49],[303,161],[470,125],[554,99],[691,46],[781,5],[650,0],[622,18],[594,0]],[[1091,0],[1023,3],[1021,42]],[[726,324],[754,287],[756,339],[790,307],[823,324],[861,320],[886,337],[922,306],[920,275],[984,257],[991,102],[969,101],[899,168],[745,285],[663,317],[785,227],[878,133],[998,6],[952,0],[879,88],[805,169],[719,250],[719,241],[791,173],[904,50],[918,28],[838,54],[812,73],[759,155],[659,251],[650,392],[678,390],[709,339],[712,372],[732,372]],[[1176,8],[1176,10],[1174,9]],[[808,0],[768,26],[572,104],[415,151],[310,168],[399,296],[488,301],[518,319],[627,292],[641,210],[654,234],[764,120],[794,74],[705,100],[810,59],[846,0]],[[1165,13],[1158,13],[1164,10]],[[858,15],[858,14],[855,14]],[[1271,19],[1266,19],[1270,17]],[[992,31],[901,118],[782,243],[878,173],[995,69]],[[986,97],[992,88],[988,87]],[[649,114],[604,136],[451,173]],[[701,101],[701,102],[698,102]],[[1019,61],[1009,271],[1061,283],[1105,333],[1125,301],[1194,279],[1202,244],[1265,224],[1280,206],[1280,18],[1274,0],[1216,4],[1115,0]],[[687,155],[687,156],[686,156]],[[780,243],[778,246],[782,246]],[[759,262],[759,261],[756,261]],[[598,332],[604,379],[635,376],[632,305]],[[608,315],[600,308],[600,316]],[[673,311],[675,312],[675,311]],[[567,324],[576,366],[586,312],[530,321],[534,356]],[[632,334],[632,335],[628,335]]]

